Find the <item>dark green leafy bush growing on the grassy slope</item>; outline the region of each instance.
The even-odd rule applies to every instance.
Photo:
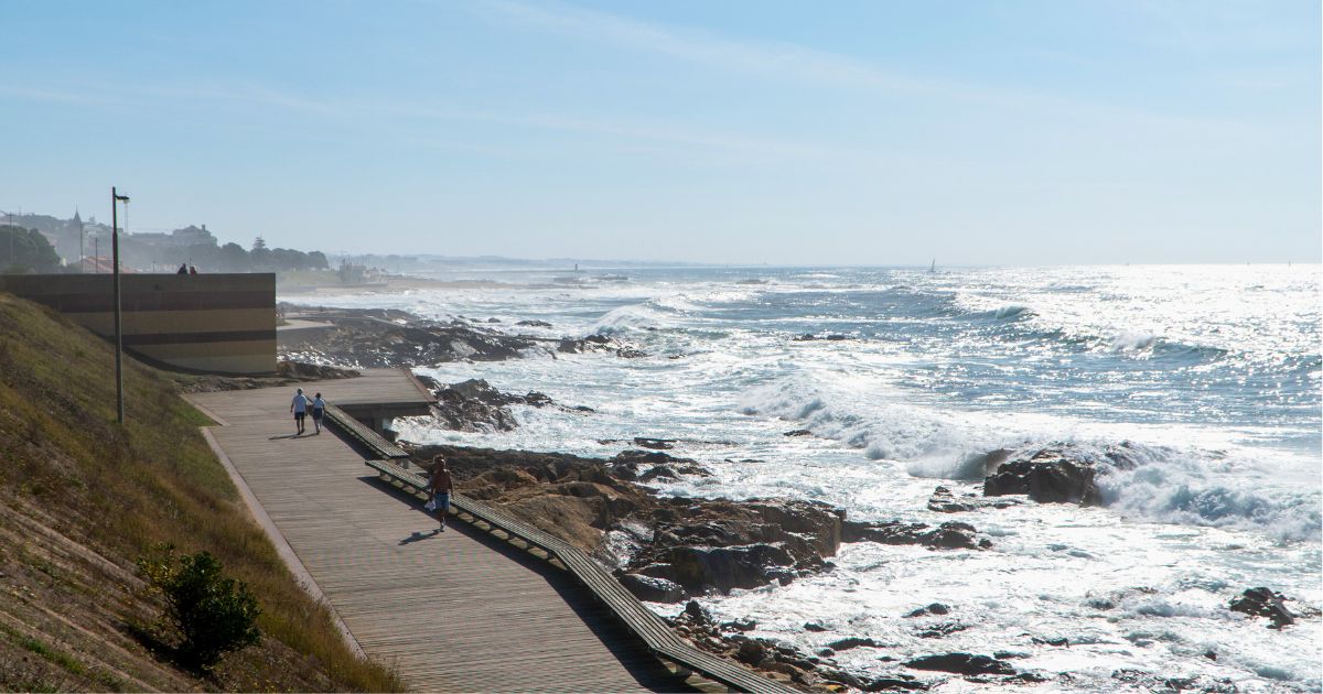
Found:
[[[157,547],[140,557],[138,567],[165,598],[165,616],[183,636],[179,656],[185,664],[208,669],[225,653],[261,638],[257,598],[247,584],[226,578],[209,553],[180,557],[172,546]]]

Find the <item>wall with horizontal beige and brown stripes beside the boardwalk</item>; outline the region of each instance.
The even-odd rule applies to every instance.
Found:
[[[124,349],[167,367],[275,371],[275,275],[120,275]],[[0,291],[114,337],[111,275],[0,275]]]

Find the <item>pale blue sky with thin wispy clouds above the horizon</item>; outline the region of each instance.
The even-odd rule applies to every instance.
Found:
[[[770,264],[1323,259],[1316,0],[0,3],[0,210]]]

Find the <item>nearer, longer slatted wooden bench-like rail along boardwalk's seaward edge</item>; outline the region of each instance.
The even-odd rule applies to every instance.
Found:
[[[364,463],[376,469],[382,480],[398,485],[406,493],[418,498],[427,498],[427,481],[421,475],[402,469],[398,464],[385,460],[364,460]],[[643,603],[634,594],[624,590],[610,571],[603,568],[602,564],[597,563],[583,550],[538,530],[503,510],[493,509],[463,494],[451,494],[450,504],[460,518],[468,516],[472,521],[482,522],[492,530],[500,530],[509,539],[517,538],[523,541],[528,545],[529,550],[541,550],[546,555],[546,559],[558,562],[574,574],[593,595],[606,604],[626,628],[642,638],[658,656],[737,691],[795,691],[781,682],[761,677],[725,658],[699,650],[688,641],[676,636],[662,617],[643,607]]]

